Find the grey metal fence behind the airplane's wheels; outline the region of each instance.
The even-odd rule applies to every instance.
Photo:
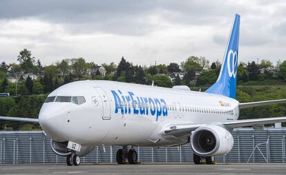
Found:
[[[216,157],[222,163],[285,163],[286,128],[252,128],[233,130],[233,149],[226,156]],[[84,163],[115,163],[119,146],[95,147],[82,158]],[[193,161],[190,144],[179,147],[135,147],[138,161],[145,163],[185,163]],[[105,151],[105,152],[104,152]],[[65,163],[50,148],[50,138],[41,131],[0,132],[0,164]]]

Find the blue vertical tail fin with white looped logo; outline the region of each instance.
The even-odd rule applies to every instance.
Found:
[[[239,41],[240,15],[236,14],[231,34],[225,50],[225,58],[222,62],[218,80],[209,89],[207,93],[221,94],[236,99],[236,75],[238,70],[238,41]]]

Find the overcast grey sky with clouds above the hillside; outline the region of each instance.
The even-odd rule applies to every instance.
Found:
[[[286,1],[0,0],[0,61],[27,48],[44,65],[84,57],[134,65],[205,56],[222,61],[234,14],[239,61],[286,60]]]

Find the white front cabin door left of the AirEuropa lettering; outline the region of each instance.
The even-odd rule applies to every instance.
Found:
[[[99,100],[102,102],[102,119],[110,120],[111,119],[111,103],[108,99],[108,96],[102,88],[95,87],[95,90],[99,94]]]

